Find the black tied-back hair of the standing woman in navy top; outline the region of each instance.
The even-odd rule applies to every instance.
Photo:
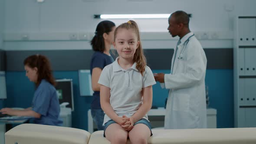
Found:
[[[103,33],[109,33],[112,31],[112,28],[115,26],[115,23],[109,20],[104,20],[98,23],[95,36],[91,40],[92,49],[94,51],[104,52],[105,43],[103,38]]]

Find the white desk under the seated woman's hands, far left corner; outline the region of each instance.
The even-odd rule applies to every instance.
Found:
[[[17,120],[17,121],[10,121],[10,120],[0,120],[0,144],[4,144],[4,134],[5,134],[5,125],[6,124],[23,124],[28,119]]]

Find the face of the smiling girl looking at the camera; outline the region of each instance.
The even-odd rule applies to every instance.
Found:
[[[139,43],[140,42],[138,41],[136,33],[133,29],[119,28],[113,45],[120,58],[133,59]]]

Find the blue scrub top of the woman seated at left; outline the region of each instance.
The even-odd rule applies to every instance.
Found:
[[[35,124],[62,126],[63,121],[59,117],[60,107],[56,89],[45,79],[42,79],[36,88],[32,110],[41,114],[41,118],[35,118]]]

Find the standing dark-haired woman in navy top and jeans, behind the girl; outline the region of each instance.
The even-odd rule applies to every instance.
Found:
[[[100,84],[98,84],[99,76],[102,69],[114,62],[109,51],[114,41],[115,23],[109,20],[104,20],[98,23],[95,36],[92,38],[91,45],[95,51],[91,59],[91,75],[92,75],[92,90],[93,99],[91,104],[91,114],[93,121],[97,124],[98,131],[103,130],[104,111],[100,105]]]

